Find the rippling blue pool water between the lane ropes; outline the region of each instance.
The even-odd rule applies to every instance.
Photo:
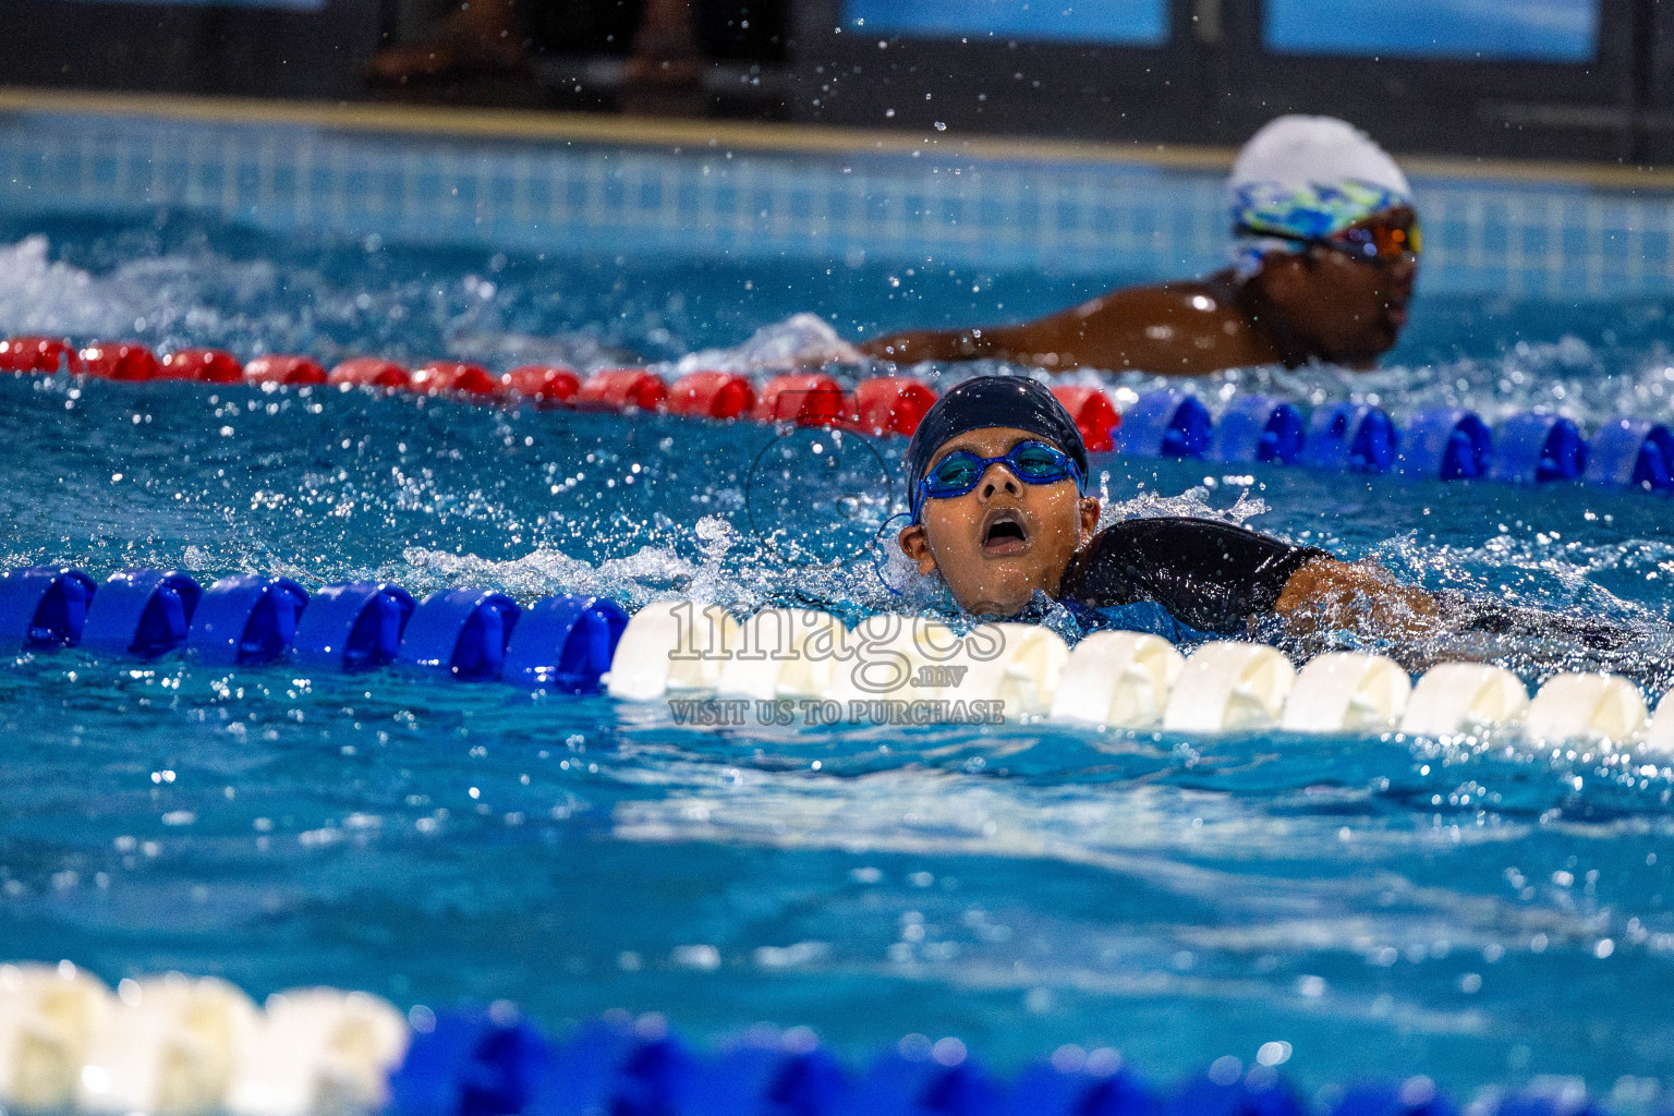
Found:
[[[167,212],[0,219],[0,330],[241,356],[678,360],[792,313],[852,338],[1031,315],[1101,286],[420,251]],[[1157,276],[1108,281],[1140,278]],[[1669,311],[1421,296],[1386,371],[1199,387],[1217,407],[1259,388],[1398,415],[1460,402],[1490,418],[1666,417]],[[772,437],[360,392],[7,378],[0,561],[629,607],[696,596],[740,614],[937,606],[870,542],[765,545],[745,484]],[[872,448],[830,487],[864,497],[864,539],[889,515],[876,462],[904,445]],[[1093,472],[1125,510],[1229,515],[1674,648],[1661,497],[1110,455]],[[827,522],[822,500],[780,499],[775,525],[804,537]],[[256,996],[330,982],[403,1007],[507,997],[552,1029],[626,1007],[698,1041],[807,1024],[850,1057],[958,1036],[1008,1071],[1066,1042],[1115,1046],[1157,1081],[1287,1042],[1281,1072],[1314,1096],[1368,1076],[1421,1072],[1461,1099],[1558,1076],[1635,1111],[1674,1083],[1666,758],[1515,735],[693,731],[660,706],[393,669],[77,651],[0,671],[0,738],[5,955],[70,957],[109,980],[182,969]]]

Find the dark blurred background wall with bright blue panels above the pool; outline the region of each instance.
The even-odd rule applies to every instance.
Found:
[[[1664,162],[1674,0],[0,0],[12,85]]]

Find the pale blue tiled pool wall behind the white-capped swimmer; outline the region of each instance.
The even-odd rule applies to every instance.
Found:
[[[1659,294],[1674,194],[1415,181],[1431,293]],[[926,261],[1086,276],[1224,263],[1220,177],[1135,164],[782,154],[0,117],[0,209],[174,207],[270,231],[529,251]]]

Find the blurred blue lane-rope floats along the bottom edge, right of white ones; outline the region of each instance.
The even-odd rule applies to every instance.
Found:
[[[1271,1047],[1271,1049],[1269,1049]],[[1274,1051],[1279,1051],[1277,1054]],[[626,1012],[549,1041],[514,1009],[444,1012],[413,1036],[390,1079],[397,1116],[1455,1116],[1428,1078],[1351,1084],[1329,1109],[1306,1104],[1271,1064],[1215,1059],[1158,1088],[1115,1051],[1060,1047],[1011,1079],[958,1039],[909,1036],[849,1072],[805,1027],[757,1029],[703,1056],[656,1016]],[[1604,1116],[1592,1103],[1538,1089],[1478,1106],[1483,1116]]]

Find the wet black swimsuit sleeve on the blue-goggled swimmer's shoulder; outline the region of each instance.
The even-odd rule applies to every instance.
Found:
[[[1252,619],[1272,612],[1291,574],[1317,557],[1331,555],[1232,524],[1128,519],[1076,554],[1058,599],[1095,627],[1122,624],[1185,639],[1247,636]]]

